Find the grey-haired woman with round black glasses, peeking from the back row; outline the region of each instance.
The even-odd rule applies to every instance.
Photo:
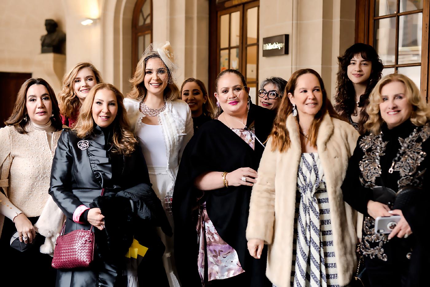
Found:
[[[287,81],[280,77],[271,77],[264,80],[258,90],[261,106],[277,111],[286,85]]]

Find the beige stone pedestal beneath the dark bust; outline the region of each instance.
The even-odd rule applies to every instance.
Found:
[[[54,89],[55,95],[61,91],[61,80],[66,70],[66,56],[55,53],[44,53],[36,56],[34,78],[43,78]]]

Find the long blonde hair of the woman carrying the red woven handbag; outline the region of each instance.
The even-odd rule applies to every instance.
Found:
[[[89,95],[80,108],[78,120],[73,131],[76,135],[83,139],[89,136],[94,129],[94,120],[92,118],[92,104],[94,102],[95,94],[101,90],[107,89],[112,91],[117,97],[118,112],[111,125],[114,125],[114,135],[112,136],[112,143],[114,149],[112,151],[119,154],[129,155],[135,150],[137,139],[130,132],[130,124],[126,116],[126,108],[124,108],[123,94],[114,86],[109,83],[99,83],[92,87]]]

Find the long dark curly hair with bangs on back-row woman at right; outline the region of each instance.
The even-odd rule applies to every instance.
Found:
[[[372,46],[364,43],[355,43],[345,51],[344,55],[338,57],[339,70],[337,74],[335,110],[345,119],[348,119],[348,116],[355,111],[355,89],[347,75],[347,71],[351,59],[357,54],[360,54],[363,59],[372,63],[372,72],[369,76],[367,87],[365,92],[360,95],[358,104],[360,108],[358,127],[359,133],[363,134],[365,132],[364,123],[369,119],[366,113],[366,108],[369,105],[369,95],[381,79],[382,69],[384,68],[378,53]]]

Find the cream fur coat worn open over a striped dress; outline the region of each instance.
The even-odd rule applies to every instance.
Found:
[[[277,287],[290,286],[295,196],[301,158],[298,124],[292,115],[286,127],[291,145],[285,152],[271,151],[267,142],[252,188],[246,238],[268,244],[267,278]],[[343,201],[341,185],[359,134],[347,122],[326,114],[316,146],[326,179],[333,229],[338,280],[346,285],[356,266],[357,214]]]

